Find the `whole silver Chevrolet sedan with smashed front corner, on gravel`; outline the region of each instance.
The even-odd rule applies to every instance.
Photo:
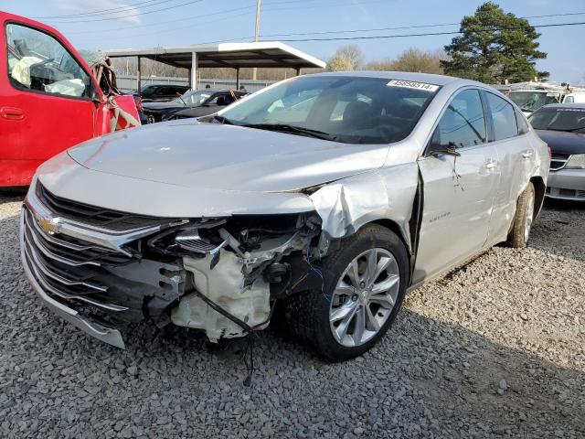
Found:
[[[404,295],[527,244],[547,145],[481,83],[403,72],[284,80],[207,121],[106,135],[38,169],[22,259],[58,316],[212,341],[286,323],[325,359],[371,348]]]

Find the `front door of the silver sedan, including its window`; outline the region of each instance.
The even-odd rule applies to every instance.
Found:
[[[419,160],[423,214],[413,282],[431,277],[480,251],[487,240],[500,178],[495,145],[487,142],[480,91],[458,91],[443,110],[433,145],[459,156]]]

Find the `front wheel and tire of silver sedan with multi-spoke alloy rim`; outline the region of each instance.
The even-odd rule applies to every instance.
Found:
[[[323,291],[296,294],[283,311],[295,336],[336,362],[363,354],[388,331],[406,293],[409,259],[399,237],[376,224],[335,244],[320,267]]]

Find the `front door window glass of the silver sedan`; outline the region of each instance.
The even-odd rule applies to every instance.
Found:
[[[433,134],[433,145],[461,148],[485,142],[485,117],[477,90],[464,90],[449,103]]]

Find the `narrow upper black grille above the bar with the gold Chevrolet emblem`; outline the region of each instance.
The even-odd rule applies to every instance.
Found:
[[[37,197],[56,216],[80,221],[84,224],[105,227],[108,230],[123,231],[155,226],[172,219],[160,219],[103,209],[97,206],[60,198],[48,191],[40,182],[37,183]]]

